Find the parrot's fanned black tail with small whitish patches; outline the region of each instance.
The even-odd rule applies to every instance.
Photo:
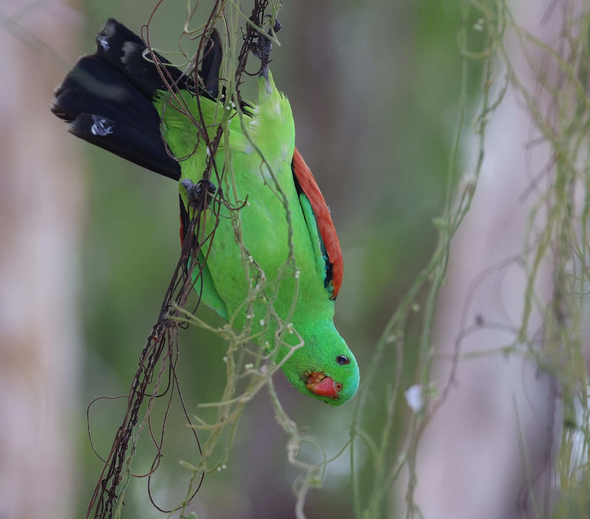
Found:
[[[96,48],[96,53],[81,57],[55,89],[51,111],[84,141],[178,180],[180,166],[168,154],[160,116],[152,103],[156,90],[166,90],[166,86],[158,67],[143,56],[146,45],[110,18],[96,35]],[[216,30],[204,54],[198,93],[217,99],[222,53]],[[196,93],[190,71],[185,74],[171,66],[160,70],[169,83]]]

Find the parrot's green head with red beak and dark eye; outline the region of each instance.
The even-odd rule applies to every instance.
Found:
[[[305,344],[293,351],[283,371],[297,390],[332,406],[355,396],[359,367],[333,323],[298,328]]]

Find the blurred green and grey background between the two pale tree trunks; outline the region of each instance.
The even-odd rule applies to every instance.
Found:
[[[198,16],[208,14],[208,5],[200,2]],[[241,5],[245,11],[250,8],[248,2]],[[153,7],[153,2],[131,0],[71,5],[81,16],[73,17],[78,46],[67,58],[73,64],[78,55],[94,51],[94,34],[106,18],[138,32]],[[185,18],[183,2],[163,2],[152,23],[153,45],[175,49]],[[271,69],[278,88],[290,99],[297,147],[330,206],[342,244],[345,279],[335,322],[355,352],[363,384],[363,368],[376,340],[434,249],[432,218],[441,210],[457,122],[460,2],[286,1],[280,19],[281,47],[273,51]],[[189,50],[186,42],[183,48]],[[474,74],[472,86],[477,81]],[[57,118],[55,131],[65,132]],[[80,517],[101,469],[86,438],[86,406],[101,395],[128,391],[180,243],[175,182],[73,137],[69,145],[84,156],[79,174],[86,211],[79,294],[86,344],[76,438]],[[198,312],[211,325],[222,325],[204,305]],[[411,336],[406,343],[412,347]],[[180,344],[181,388],[188,412],[195,414],[197,404],[221,396],[225,347],[215,335],[195,327],[181,332]],[[410,349],[403,389],[414,383],[411,359]],[[385,414],[384,387],[394,368],[395,355],[388,354],[382,378],[372,381],[363,426],[375,438]],[[276,386],[297,424],[316,436],[329,455],[339,451],[349,438],[354,404],[332,408],[314,402],[291,390],[281,373]],[[123,412],[123,400],[100,400],[91,407],[90,428],[102,455]],[[202,410],[199,414],[213,416]],[[159,419],[156,410],[156,422]],[[403,420],[395,427],[401,437]],[[262,391],[241,420],[227,469],[205,476],[190,510],[201,519],[294,517],[291,487],[301,473],[287,462],[286,441]],[[135,458],[135,472],[149,469],[153,453],[146,442]],[[303,453],[306,456],[313,459],[316,454]],[[186,420],[175,408],[166,427],[163,468],[152,480],[152,494],[162,508],[182,500],[185,492],[190,473],[179,459],[196,463],[198,452]],[[365,459],[361,447],[357,461],[363,496],[371,488],[372,473]],[[392,463],[395,459],[393,446]],[[307,517],[353,517],[349,472],[345,453],[329,466],[324,487],[309,492]],[[165,516],[150,504],[145,478],[132,482],[125,503],[126,519]],[[385,511],[389,504],[384,505]]]

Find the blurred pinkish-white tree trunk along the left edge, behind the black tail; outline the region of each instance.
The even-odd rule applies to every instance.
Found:
[[[73,513],[80,181],[74,139],[48,107],[64,74],[51,54],[68,46],[67,13],[0,2],[2,519]]]

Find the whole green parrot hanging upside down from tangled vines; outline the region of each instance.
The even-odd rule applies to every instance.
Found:
[[[273,30],[279,28],[277,22]],[[162,68],[175,94],[149,53],[145,57],[146,45],[124,25],[107,20],[96,43],[96,53],[81,57],[55,89],[52,112],[73,135],[178,181],[181,240],[189,216],[207,197],[194,274],[202,271],[195,282],[201,301],[238,329],[250,325],[267,350],[282,331],[276,360],[284,360],[284,373],[301,393],[333,406],[350,400],[358,389],[359,368],[333,324],[342,252],[324,198],[295,149],[289,102],[268,70],[270,39],[261,32],[253,49],[261,60],[258,103],[242,103],[243,127],[234,102],[219,86],[222,49],[216,30],[198,73]],[[227,124],[226,139],[214,153],[222,175],[212,172],[210,180],[203,179],[212,150],[180,105],[197,121],[200,105],[211,140],[222,121]],[[230,167],[224,169],[227,143],[233,175]],[[231,216],[236,213],[245,249],[235,239]],[[290,250],[295,269],[286,266]],[[260,267],[264,277],[249,264]],[[256,285],[266,298],[246,305]],[[273,298],[276,313],[268,304]]]

